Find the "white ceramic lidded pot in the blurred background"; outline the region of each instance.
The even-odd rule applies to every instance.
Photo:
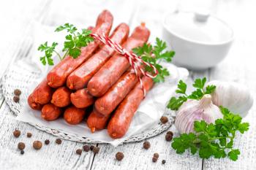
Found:
[[[173,62],[187,69],[208,69],[222,61],[233,42],[233,30],[203,12],[172,12],[163,20],[163,39],[176,52]]]

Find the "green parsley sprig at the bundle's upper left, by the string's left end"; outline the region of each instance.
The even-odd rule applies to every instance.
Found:
[[[78,28],[72,24],[65,23],[63,26],[56,28],[55,31],[59,32],[64,30],[66,30],[68,34],[65,36],[66,40],[62,49],[62,52],[64,52],[63,56],[61,56],[55,50],[56,46],[58,45],[57,42],[53,42],[51,46],[48,46],[48,42],[45,42],[38,47],[39,51],[45,52],[45,54],[40,57],[40,61],[43,65],[46,63],[48,63],[48,65],[53,65],[53,53],[56,53],[60,60],[63,60],[67,55],[72,58],[78,58],[81,53],[81,47],[86,47],[90,42],[94,41],[94,39],[90,36],[91,31],[88,29],[82,29],[81,32],[78,32]]]

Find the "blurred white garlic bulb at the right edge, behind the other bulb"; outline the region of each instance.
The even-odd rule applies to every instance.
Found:
[[[214,80],[207,85],[216,85],[211,94],[212,102],[217,106],[227,107],[231,112],[245,117],[252,107],[253,98],[248,88],[237,82],[222,82]]]

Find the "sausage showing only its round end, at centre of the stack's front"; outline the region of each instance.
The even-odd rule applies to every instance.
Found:
[[[71,103],[78,108],[86,108],[94,104],[94,96],[91,96],[87,88],[77,90],[70,95]]]

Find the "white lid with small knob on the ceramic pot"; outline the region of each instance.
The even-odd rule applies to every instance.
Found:
[[[172,34],[191,42],[222,44],[233,39],[232,28],[209,12],[169,13],[164,25]]]

